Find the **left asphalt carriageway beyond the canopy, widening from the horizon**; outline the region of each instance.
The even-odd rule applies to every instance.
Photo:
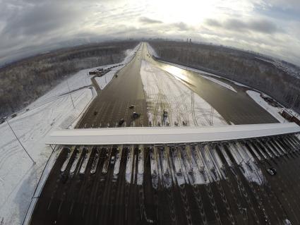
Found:
[[[104,90],[97,90],[97,97],[90,105],[78,128],[115,127],[124,118],[123,126],[148,126],[147,106],[140,78],[140,61],[143,47],[138,49],[124,68],[117,73]],[[95,85],[95,83],[94,83]],[[131,105],[134,109],[129,109]],[[133,112],[140,118],[133,119]]]

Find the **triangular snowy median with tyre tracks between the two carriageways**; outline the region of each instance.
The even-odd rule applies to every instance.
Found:
[[[227,124],[208,102],[166,71],[142,61],[140,75],[143,81],[148,115],[153,126],[208,126]],[[164,109],[168,116],[163,118]]]

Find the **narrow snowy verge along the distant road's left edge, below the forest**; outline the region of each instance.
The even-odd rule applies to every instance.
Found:
[[[129,63],[131,61],[131,59],[133,59],[133,56],[134,56],[134,54],[136,54],[136,51],[138,51],[139,47],[140,47],[140,44],[138,44],[134,49],[127,49],[125,51],[126,57],[125,57],[124,61],[122,61],[121,63],[102,66],[102,68],[107,68],[107,67],[112,67],[112,66],[116,66],[116,67],[112,68],[112,70],[109,71],[108,73],[106,73],[105,75],[102,75],[102,77],[95,78],[95,80],[101,90],[103,90],[104,87],[106,87],[109,84],[109,82],[112,81],[112,78],[114,78],[114,75],[119,70],[121,70],[121,68],[124,68],[124,66],[126,66],[126,64]],[[117,66],[117,65],[120,65],[120,66]],[[97,67],[97,68],[101,68],[101,67]]]

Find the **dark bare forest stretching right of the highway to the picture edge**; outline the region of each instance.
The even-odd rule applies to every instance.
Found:
[[[272,59],[248,51],[211,44],[153,40],[150,45],[162,60],[214,72],[225,78],[254,87],[272,96],[284,107],[300,112],[299,67],[297,73],[275,66]]]

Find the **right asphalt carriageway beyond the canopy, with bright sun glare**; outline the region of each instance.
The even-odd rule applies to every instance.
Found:
[[[144,51],[146,53],[147,51]],[[144,59],[162,68],[163,70],[172,71],[174,66],[152,59],[144,55]],[[215,78],[224,83],[228,83],[237,91],[232,92],[225,87],[218,85],[210,80],[207,80],[193,71],[186,71],[181,68],[175,69],[176,73],[181,73],[181,79],[200,97],[205,99],[219,114],[231,124],[256,124],[256,123],[278,123],[278,121],[265,109],[260,107],[246,93],[246,90],[251,90],[247,87],[241,87],[230,83],[228,80]]]

